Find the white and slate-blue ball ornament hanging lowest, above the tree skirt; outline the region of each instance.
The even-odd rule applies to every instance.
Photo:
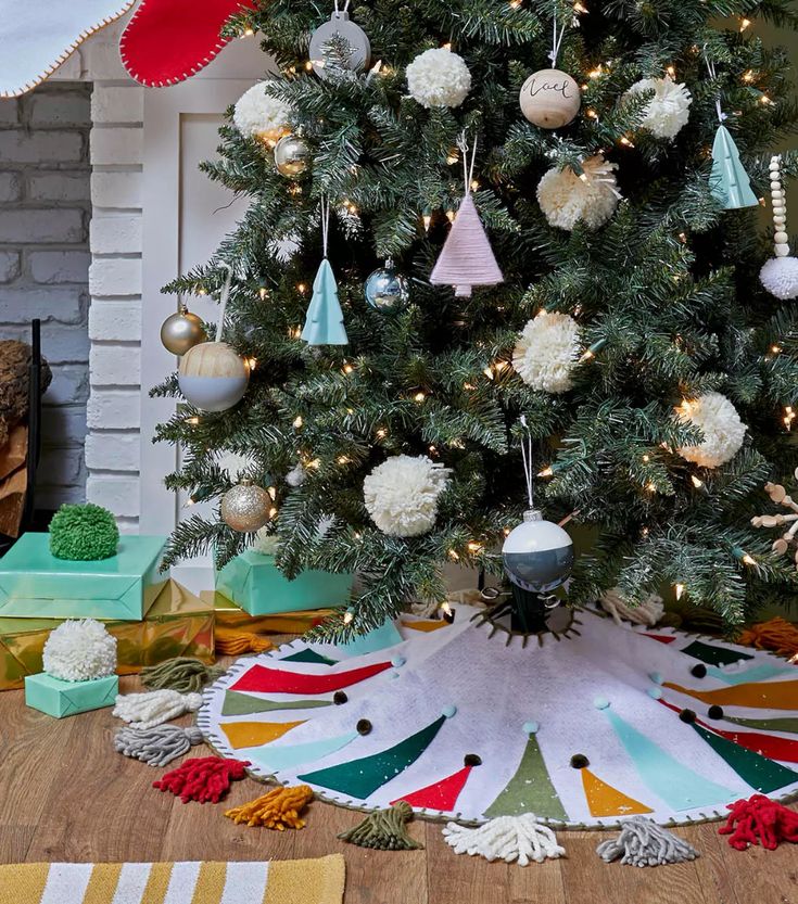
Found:
[[[529,509],[504,542],[502,558],[516,586],[545,594],[559,587],[571,573],[573,542],[558,524],[545,521],[537,509]]]

